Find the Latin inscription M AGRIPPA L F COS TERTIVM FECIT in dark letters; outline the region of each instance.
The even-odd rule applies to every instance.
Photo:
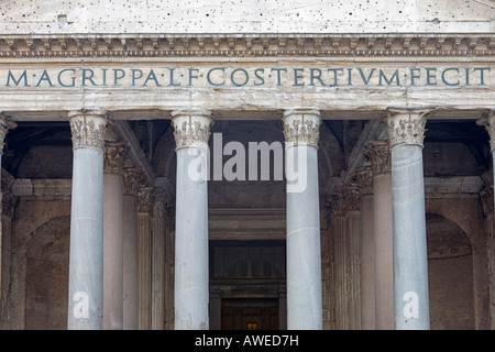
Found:
[[[483,87],[495,69],[480,67],[64,67],[0,70],[0,87],[222,88],[222,87]]]

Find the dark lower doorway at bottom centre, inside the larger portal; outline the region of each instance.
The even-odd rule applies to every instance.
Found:
[[[278,330],[278,299],[222,299],[222,330]]]

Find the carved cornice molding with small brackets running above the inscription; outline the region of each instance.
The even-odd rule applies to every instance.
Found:
[[[492,33],[0,35],[0,58],[493,55],[495,35]]]

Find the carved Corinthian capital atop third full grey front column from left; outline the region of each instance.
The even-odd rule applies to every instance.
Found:
[[[307,144],[318,147],[320,138],[320,112],[312,108],[284,111],[285,145]]]

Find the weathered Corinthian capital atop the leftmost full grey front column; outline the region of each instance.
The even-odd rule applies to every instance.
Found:
[[[100,109],[81,109],[68,112],[73,147],[105,145],[107,130],[107,111]]]

